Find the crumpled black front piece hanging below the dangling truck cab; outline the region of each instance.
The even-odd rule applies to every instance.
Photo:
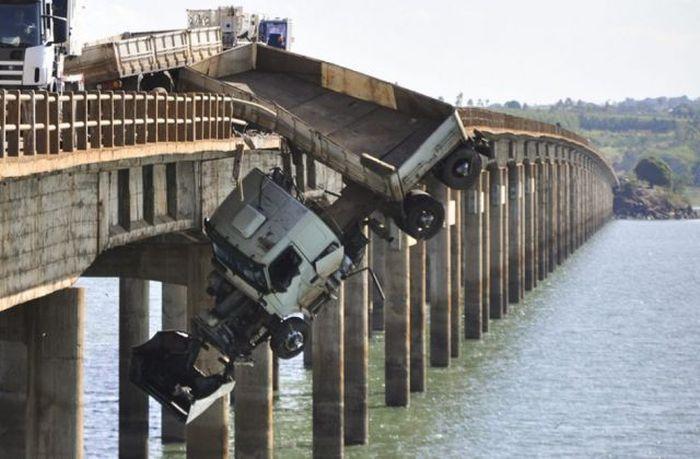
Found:
[[[228,359],[200,339],[163,331],[133,349],[129,378],[189,424],[233,390],[228,368]]]

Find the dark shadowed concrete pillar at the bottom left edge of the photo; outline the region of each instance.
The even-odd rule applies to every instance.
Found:
[[[25,457],[28,352],[26,305],[0,312],[0,459]]]

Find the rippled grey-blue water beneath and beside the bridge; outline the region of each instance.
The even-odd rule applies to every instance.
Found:
[[[86,438],[117,449],[117,282],[88,287]],[[160,288],[151,285],[152,304]],[[152,307],[151,328],[160,323]],[[493,324],[493,322],[492,322]],[[373,339],[370,445],[350,457],[700,457],[700,221],[606,226],[565,266],[462,346],[408,409],[383,404]],[[308,457],[311,377],[282,364],[275,405],[280,457]],[[152,457],[163,451],[152,404]]]

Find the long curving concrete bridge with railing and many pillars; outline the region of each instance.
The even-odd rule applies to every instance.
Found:
[[[452,110],[332,64],[300,70],[290,53],[241,53],[180,69],[177,94],[0,93],[0,457],[82,455],[90,292],[73,287],[79,277],[120,278],[120,454],[145,457],[148,403],[126,369],[148,338],[147,282],[163,283],[164,328],[184,329],[207,307],[202,221],[237,180],[279,166],[305,192],[338,192],[354,173],[347,164],[366,167],[348,151],[409,142],[420,128],[396,134],[392,123],[429,125]],[[309,93],[309,81],[322,91]],[[368,441],[372,333],[385,333],[386,404],[407,406],[429,390],[428,367],[448,367],[460,340],[488,333],[611,217],[617,179],[586,139],[488,110],[459,113],[495,153],[477,185],[458,192],[427,174],[422,183],[450,210],[442,231],[416,242],[390,225],[393,242],[373,237],[366,263],[386,300],[357,275],[314,322],[305,363],[317,457]],[[246,124],[281,137],[232,129]],[[274,359],[266,346],[254,357],[236,368],[233,434],[222,400],[186,431],[164,415],[164,441],[186,442],[188,457],[226,457],[233,436],[240,457],[270,457]]]

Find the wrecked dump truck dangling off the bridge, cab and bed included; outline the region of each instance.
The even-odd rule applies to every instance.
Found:
[[[280,170],[253,170],[205,221],[214,308],[192,319],[190,333],[160,332],[136,348],[131,368],[136,385],[191,422],[233,387],[233,363],[256,346],[269,340],[283,359],[303,350],[314,316],[357,273],[364,228],[386,237],[373,213],[416,239],[433,237],[445,211],[420,182],[432,175],[468,189],[492,150],[448,104],[261,44],[179,78],[182,89],[231,94],[238,125],[281,135],[345,182],[321,206]]]

